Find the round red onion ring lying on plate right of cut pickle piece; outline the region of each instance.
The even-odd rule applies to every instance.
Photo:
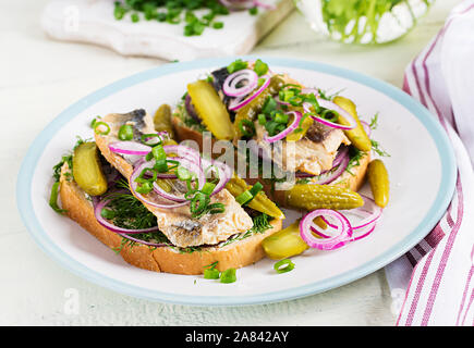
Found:
[[[339,234],[329,238],[317,238],[312,234],[314,219],[317,216],[332,216],[337,220]],[[352,227],[349,220],[340,212],[330,209],[316,209],[307,213],[300,221],[300,235],[311,247],[319,250],[335,250],[347,245],[352,237]]]

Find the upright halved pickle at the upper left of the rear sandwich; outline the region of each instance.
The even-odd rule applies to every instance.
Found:
[[[187,85],[187,92],[197,114],[210,133],[219,140],[231,140],[233,125],[226,105],[214,87],[208,82],[199,79]]]

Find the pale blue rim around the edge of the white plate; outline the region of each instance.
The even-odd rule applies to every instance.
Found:
[[[242,59],[257,59],[257,57],[239,57]],[[171,293],[162,293],[153,289],[145,289],[138,286],[122,283],[120,281],[109,278],[101,273],[98,273],[80,261],[72,259],[69,254],[62,251],[53,240],[51,240],[38,221],[33,209],[33,202],[31,200],[32,177],[37,165],[38,159],[48,144],[50,136],[61,129],[70,120],[76,116],[84,109],[90,107],[97,101],[121,90],[126,87],[139,84],[142,82],[157,78],[160,76],[179,73],[181,71],[206,69],[214,66],[224,66],[234,61],[236,57],[222,58],[222,59],[203,59],[184,63],[170,63],[161,65],[151,70],[147,70],[132,76],[120,79],[112,83],[88,96],[75,102],[63,112],[61,112],[52,122],[50,122],[46,128],[35,138],[31,145],[22,166],[19,172],[16,185],[16,201],[22,220],[29,231],[33,238],[39,245],[39,247],[49,254],[52,259],[58,261],[69,271],[74,274],[106,288],[114,291],[125,294],[133,297],[144,298],[154,301],[169,302],[175,304],[191,304],[191,306],[242,306],[242,304],[262,304],[278,301],[291,300],[300,297],[305,297],[318,293],[336,288],[353,281],[356,281],[369,273],[373,273],[391,261],[396,260],[413,246],[415,246],[422,238],[424,238],[429,231],[441,219],[443,212],[448,208],[448,204],[452,198],[454,191],[454,185],[457,179],[457,164],[454,160],[454,152],[451,147],[450,140],[440,126],[437,120],[425,109],[420,102],[412,97],[400,90],[399,88],[387,84],[382,80],[374,77],[366,76],[364,74],[341,69],[338,66],[324,64],[319,62],[293,60],[293,59],[279,59],[259,57],[269,65],[288,66],[303,70],[317,71],[325,74],[330,74],[347,79],[354,80],[362,85],[372,87],[389,98],[396,100],[404,108],[406,108],[412,114],[414,114],[426,127],[432,138],[435,141],[441,162],[441,183],[440,189],[437,194],[435,202],[429,208],[425,217],[418,223],[418,225],[403,240],[392,246],[384,254],[366,262],[365,264],[345,272],[343,274],[326,278],[312,284],[306,284],[300,287],[263,293],[248,296],[195,296],[195,295],[175,295]]]

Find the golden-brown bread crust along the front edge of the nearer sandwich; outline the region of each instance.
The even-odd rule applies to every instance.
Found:
[[[132,247],[127,244],[122,246],[121,236],[97,222],[93,203],[77,184],[64,175],[68,172],[65,163],[61,170],[60,198],[68,216],[109,248],[120,250],[120,256],[127,263],[141,269],[173,274],[202,274],[204,266],[216,261],[219,271],[243,268],[263,259],[265,252],[262,240],[281,229],[281,220],[272,220],[272,228],[265,233],[254,234],[224,247],[203,247],[202,250],[193,252],[180,252],[170,247],[150,248],[138,244]]]

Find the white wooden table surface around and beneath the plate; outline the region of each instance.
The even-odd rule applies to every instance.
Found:
[[[0,0],[0,325],[393,325],[382,270],[306,298],[263,306],[206,308],[149,302],[90,284],[47,257],[24,227],[16,175],[37,134],[63,109],[123,76],[163,64],[50,40],[39,27],[47,1]],[[442,26],[458,0],[438,0],[393,45],[329,42],[293,12],[252,53],[327,62],[401,86],[403,70]],[[68,310],[71,294],[78,310]]]

